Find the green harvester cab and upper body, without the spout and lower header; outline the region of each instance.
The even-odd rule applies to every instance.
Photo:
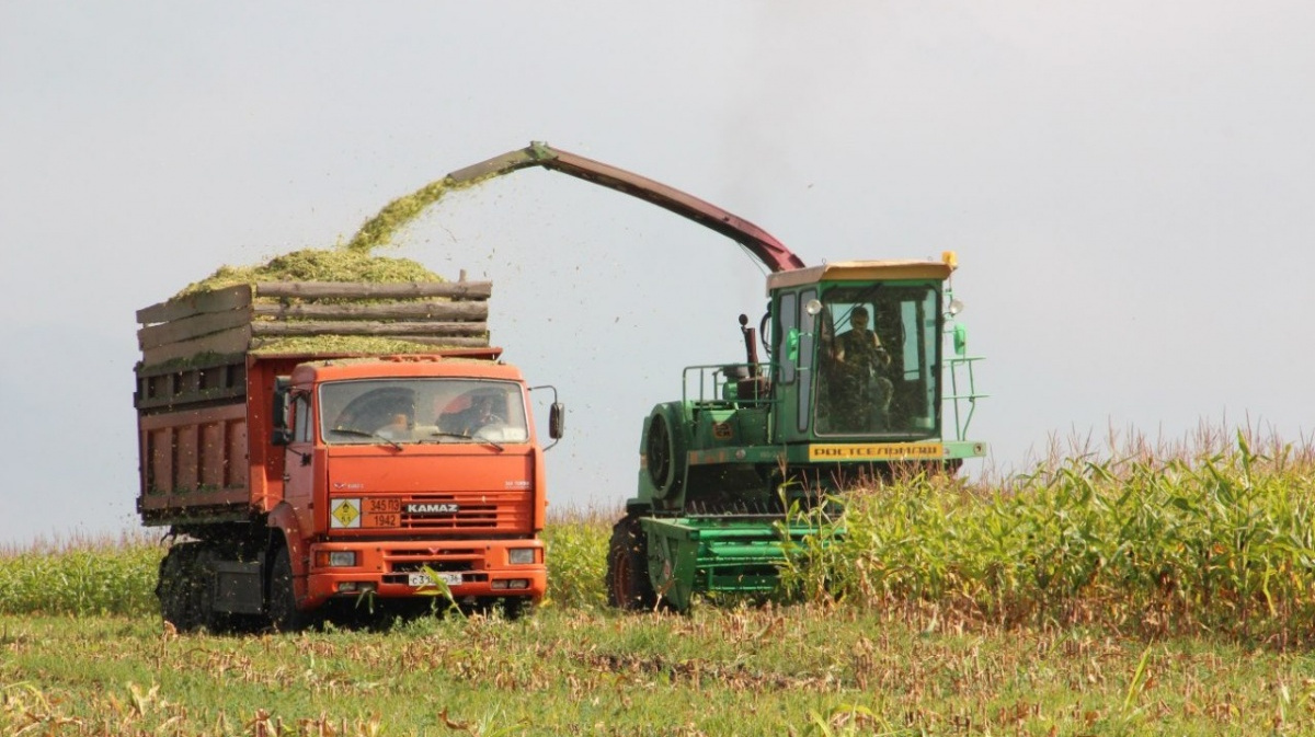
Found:
[[[947,252],[940,261],[847,261],[768,277],[768,360],[751,347],[743,364],[685,369],[682,398],[644,422],[631,508],[780,507],[782,486],[822,495],[899,464],[955,469],[984,455],[982,443],[967,440],[978,359],[964,353],[963,338],[959,351],[944,339],[963,335],[951,314],[960,309],[951,307],[953,268]],[[752,328],[742,331],[752,339]]]

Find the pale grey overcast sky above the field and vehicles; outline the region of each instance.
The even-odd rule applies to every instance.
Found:
[[[1301,443],[1311,38],[1308,1],[0,3],[0,544],[135,527],[137,309],[530,141],[809,264],[957,251],[977,472],[1110,428]],[[764,310],[732,242],[542,169],[400,240],[490,279],[568,403],[558,508],[634,494],[642,418]]]

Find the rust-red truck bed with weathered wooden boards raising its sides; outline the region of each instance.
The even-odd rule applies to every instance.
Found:
[[[350,349],[354,336],[434,352],[488,347],[490,293],[489,282],[472,281],[264,282],[138,310],[142,522],[214,524],[271,510],[283,493],[283,453],[268,444],[276,376],[362,355]],[[334,347],[283,352],[276,342],[288,336]]]

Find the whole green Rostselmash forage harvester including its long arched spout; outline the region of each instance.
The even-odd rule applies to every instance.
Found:
[[[543,167],[652,202],[743,246],[772,273],[743,363],[689,367],[680,399],[652,409],[638,493],[613,529],[613,606],[686,610],[697,594],[775,589],[798,514],[894,469],[953,470],[985,456],[968,439],[973,364],[940,260],[806,267],[784,243],[717,205],[633,172],[531,143],[448,175],[466,184]],[[757,335],[760,334],[760,335]],[[759,339],[765,359],[757,353]]]

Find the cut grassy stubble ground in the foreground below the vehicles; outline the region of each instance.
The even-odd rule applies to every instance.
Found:
[[[0,617],[4,734],[1310,734],[1315,662],[934,612],[543,611],[178,637]],[[26,730],[26,732],[25,732]]]

